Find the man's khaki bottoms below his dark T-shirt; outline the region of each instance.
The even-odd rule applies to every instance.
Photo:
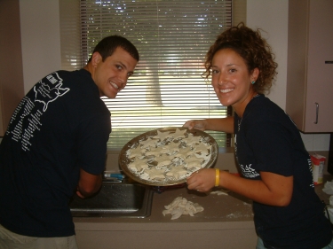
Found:
[[[28,237],[6,230],[0,224],[1,249],[77,249],[75,235],[69,237]]]

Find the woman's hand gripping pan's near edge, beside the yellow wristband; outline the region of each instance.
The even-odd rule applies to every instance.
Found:
[[[189,190],[208,192],[215,186],[215,168],[203,168],[187,178]]]

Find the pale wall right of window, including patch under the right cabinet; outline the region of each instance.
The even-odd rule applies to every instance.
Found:
[[[278,63],[278,75],[267,95],[283,110],[286,107],[287,51],[288,51],[288,0],[247,0],[247,26],[262,28],[262,35],[272,46]],[[302,134],[308,151],[329,151],[329,134]]]

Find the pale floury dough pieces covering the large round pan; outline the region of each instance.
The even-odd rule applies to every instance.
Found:
[[[157,130],[155,136],[142,138],[126,151],[131,160],[128,168],[134,175],[149,182],[184,179],[206,167],[211,145],[202,136],[176,128],[175,132]]]

